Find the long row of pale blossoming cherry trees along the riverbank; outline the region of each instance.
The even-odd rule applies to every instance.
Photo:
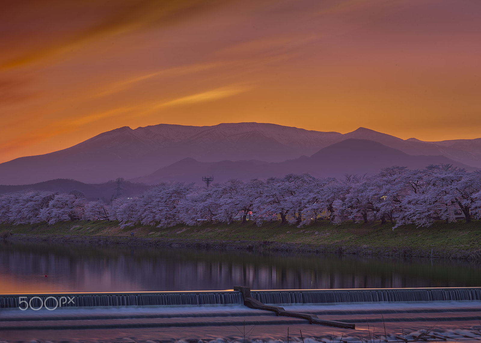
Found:
[[[284,178],[253,179],[199,187],[182,182],[161,183],[134,198],[111,204],[87,202],[82,193],[23,191],[0,196],[1,223],[53,224],[74,219],[118,220],[122,227],[136,223],[170,227],[198,225],[204,220],[231,223],[248,217],[258,225],[280,220],[298,227],[327,219],[391,221],[430,226],[435,220],[467,222],[481,214],[481,171],[467,172],[452,165],[425,169],[385,168],[372,176],[342,179],[290,174]]]

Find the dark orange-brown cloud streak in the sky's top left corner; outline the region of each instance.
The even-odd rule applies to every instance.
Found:
[[[17,30],[12,25],[22,26],[17,27],[19,32],[29,28],[34,30],[28,35],[5,35],[7,37],[4,39],[21,39],[25,41],[24,45],[35,48],[20,49],[22,52],[17,51],[13,57],[0,62],[0,71],[74,51],[96,39],[128,34],[152,25],[171,25],[222,3],[220,0],[116,0],[107,3],[95,0],[77,3],[52,0],[50,6],[38,6],[36,1],[9,4],[4,13],[15,13],[16,22],[0,15],[0,22],[11,26],[5,32],[15,33]],[[43,17],[44,21],[50,21],[49,25],[37,27],[36,19],[32,20],[32,13],[36,14],[35,18]],[[65,22],[69,24],[66,25]],[[62,26],[53,31],[49,29],[56,24]]]

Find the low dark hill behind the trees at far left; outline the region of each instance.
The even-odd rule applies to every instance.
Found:
[[[115,181],[109,181],[101,184],[89,184],[76,180],[59,178],[31,185],[0,185],[0,194],[23,190],[58,191],[60,193],[68,193],[69,191],[77,190],[83,192],[88,200],[97,200],[97,198],[103,198],[104,201],[110,202],[110,198],[112,194],[116,192],[116,188],[117,185]],[[147,186],[144,184],[123,181],[121,188],[123,188],[121,192],[124,196],[133,196],[144,191]]]

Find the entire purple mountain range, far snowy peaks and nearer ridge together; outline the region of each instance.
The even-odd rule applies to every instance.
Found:
[[[199,182],[212,174],[215,181],[225,181],[291,172],[339,177],[376,173],[390,165],[420,168],[438,163],[481,167],[481,139],[402,140],[363,127],[341,134],[265,123],[159,124],[120,127],[67,149],[2,163],[0,184],[59,178],[103,183],[117,177],[148,184]]]

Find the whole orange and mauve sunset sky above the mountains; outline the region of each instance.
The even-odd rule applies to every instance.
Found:
[[[480,18],[480,0],[2,1],[0,162],[160,123],[479,138]]]

